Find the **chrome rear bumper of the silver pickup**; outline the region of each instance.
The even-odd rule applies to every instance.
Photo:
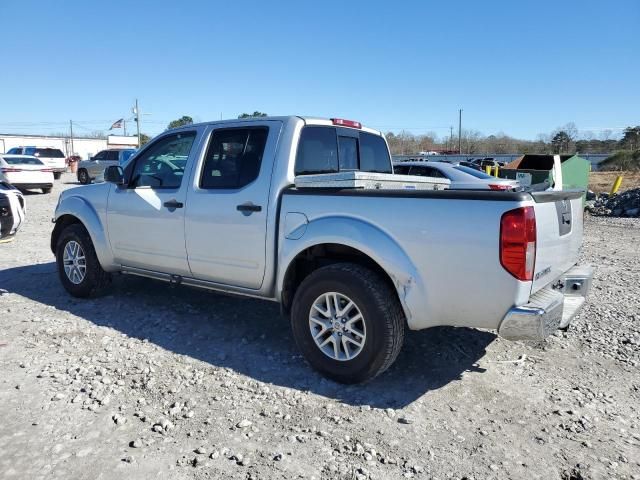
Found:
[[[591,288],[593,268],[575,266],[553,286],[536,292],[529,303],[511,308],[498,328],[507,340],[544,340],[558,328],[565,328],[578,314]]]

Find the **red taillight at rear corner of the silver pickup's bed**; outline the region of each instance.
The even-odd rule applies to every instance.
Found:
[[[525,282],[533,279],[536,263],[536,214],[533,207],[509,210],[500,220],[500,263]]]

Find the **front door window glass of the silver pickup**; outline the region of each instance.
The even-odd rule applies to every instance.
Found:
[[[129,188],[179,188],[196,132],[167,135],[135,159]]]

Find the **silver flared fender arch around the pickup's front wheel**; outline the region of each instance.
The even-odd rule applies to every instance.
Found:
[[[93,247],[96,251],[96,256],[102,268],[106,271],[115,271],[117,267],[115,265],[113,254],[111,253],[111,247],[107,240],[107,233],[103,219],[96,211],[95,207],[87,199],[72,195],[64,197],[58,207],[54,221],[56,222],[56,228],[54,228],[52,234],[52,250],[55,249],[54,236],[60,232],[57,232],[58,225],[63,223],[62,220],[65,216],[71,216],[76,218],[89,232]],[[54,251],[55,253],[55,251]]]

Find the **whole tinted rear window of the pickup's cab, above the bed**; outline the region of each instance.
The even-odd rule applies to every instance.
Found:
[[[308,125],[302,129],[295,174],[392,173],[387,144],[380,135],[357,129]]]

